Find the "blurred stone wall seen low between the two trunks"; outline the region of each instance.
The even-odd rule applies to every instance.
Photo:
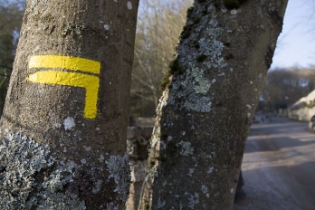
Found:
[[[126,203],[127,210],[138,209],[138,201],[147,166],[149,138],[153,126],[140,128],[129,127],[127,132],[127,150],[131,167],[131,184],[129,199]]]

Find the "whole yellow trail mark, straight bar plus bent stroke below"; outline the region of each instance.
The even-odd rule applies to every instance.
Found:
[[[37,55],[31,58],[29,68],[60,68],[72,71],[100,73],[100,62],[70,56]],[[86,90],[84,117],[86,119],[95,119],[97,115],[100,78],[81,72],[40,71],[28,75],[26,80],[34,83],[84,88]]]

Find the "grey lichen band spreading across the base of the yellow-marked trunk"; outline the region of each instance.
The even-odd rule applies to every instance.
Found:
[[[50,146],[38,144],[25,135],[15,133],[3,138],[0,146],[0,207],[84,210],[85,201],[80,195],[100,195],[103,183],[110,183],[112,178],[116,184],[113,192],[118,196],[107,198],[107,209],[119,209],[128,199],[130,168],[127,152],[123,157],[102,159],[100,166],[93,163],[82,166],[60,158],[51,152]],[[98,175],[104,170],[109,171],[108,177]],[[88,183],[80,184],[79,180],[95,181],[92,186],[87,186]]]

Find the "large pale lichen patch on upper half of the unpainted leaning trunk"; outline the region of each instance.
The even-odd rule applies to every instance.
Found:
[[[202,15],[203,11],[209,15]],[[220,70],[224,76],[224,43],[221,42],[224,28],[216,21],[215,6],[194,6],[193,17],[187,19],[186,31],[194,25],[190,35],[183,37],[177,49],[177,58],[182,67],[182,74],[172,77],[171,89],[168,93],[168,103],[175,106],[177,110],[193,110],[198,112],[209,112],[212,107],[212,95],[210,90],[215,78],[209,78],[210,70]],[[194,20],[198,20],[194,23]],[[209,20],[210,19],[210,20]],[[200,37],[203,33],[203,37]],[[197,47],[191,47],[197,46]],[[212,74],[214,77],[214,74]]]

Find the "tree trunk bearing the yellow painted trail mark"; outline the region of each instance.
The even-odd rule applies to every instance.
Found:
[[[123,207],[137,11],[138,0],[27,1],[1,119],[2,208]]]

